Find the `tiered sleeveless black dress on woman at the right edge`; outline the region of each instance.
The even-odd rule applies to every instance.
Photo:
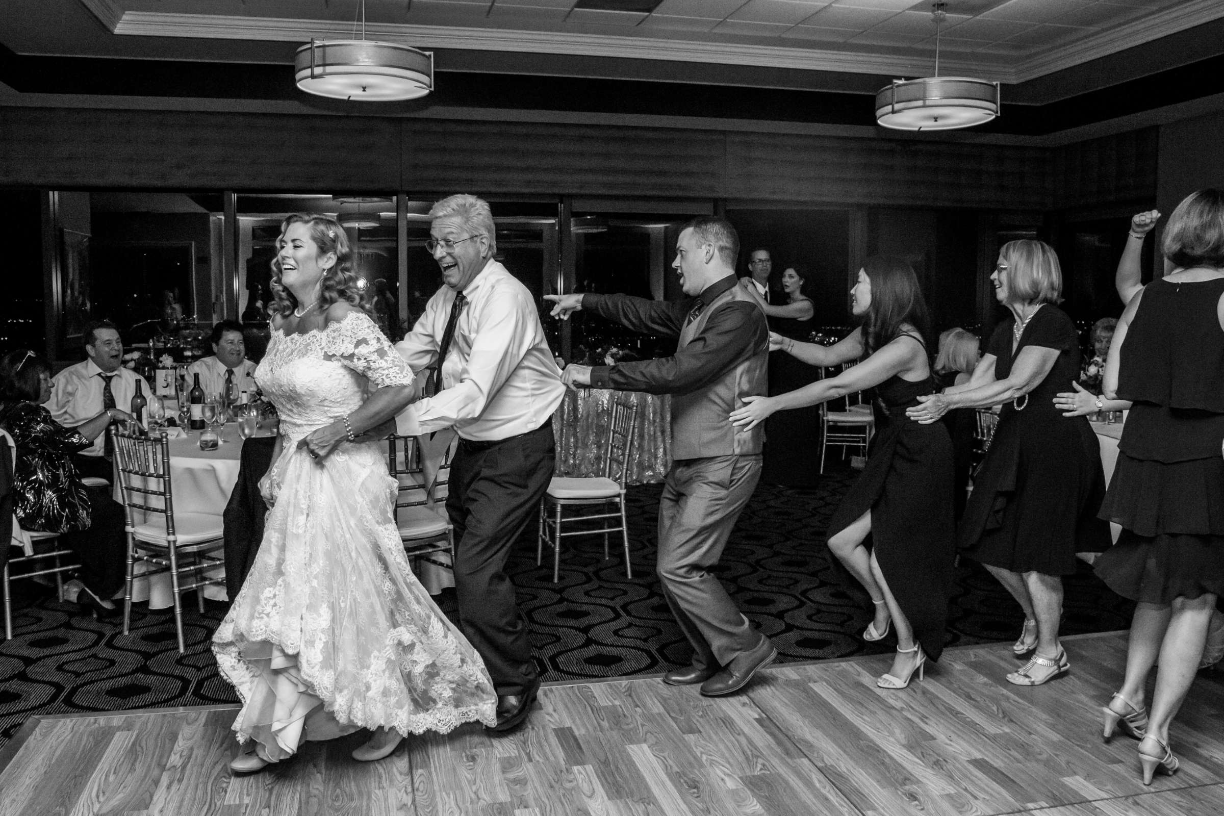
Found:
[[[1132,601],[1224,595],[1222,295],[1224,279],[1148,284],[1120,350],[1133,406],[1100,517],[1122,532],[1095,570]]]

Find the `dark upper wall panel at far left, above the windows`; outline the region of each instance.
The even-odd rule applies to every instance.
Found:
[[[393,191],[399,132],[373,117],[7,108],[0,184]]]

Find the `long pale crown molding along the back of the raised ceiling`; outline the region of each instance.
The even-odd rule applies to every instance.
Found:
[[[81,0],[88,7],[109,0]],[[99,16],[99,20],[106,21]],[[324,20],[286,20],[279,17],[233,17],[228,15],[180,15],[126,11],[114,26],[115,34],[138,37],[186,37],[200,39],[241,39],[304,43],[311,38],[343,37],[335,22]],[[841,73],[879,73],[917,76],[928,70],[934,55],[902,56],[854,51],[788,48],[744,43],[707,43],[661,37],[617,37],[570,32],[512,31],[506,28],[443,28],[400,23],[366,23],[366,35],[420,49],[457,49],[512,51],[526,54],[567,54],[572,56],[608,56],[716,65],[752,65],[800,71]],[[665,50],[666,49],[666,50]],[[1013,72],[983,60],[958,60],[945,55],[945,71],[972,72],[973,76],[1012,82]],[[984,70],[987,69],[987,70]]]

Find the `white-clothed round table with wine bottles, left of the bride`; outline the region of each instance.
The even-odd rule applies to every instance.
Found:
[[[170,429],[170,433],[175,433]],[[181,432],[180,432],[181,433]],[[237,483],[239,460],[242,454],[242,438],[237,425],[228,422],[220,428],[222,443],[217,450],[200,449],[200,432],[170,439],[170,481],[174,489],[174,509],[176,513],[209,513],[220,516],[225,511],[230,493]],[[261,431],[257,436],[272,436]],[[116,480],[118,484],[118,480]],[[116,491],[118,493],[118,491]],[[116,500],[122,502],[120,495]],[[148,601],[151,609],[165,609],[174,606],[170,590],[170,574],[162,573],[152,577],[142,577],[140,573],[149,569],[144,562],[136,564],[136,580],[132,582],[132,601]],[[208,577],[224,577],[225,570],[218,566],[206,573]],[[225,585],[204,587],[204,597],[213,601],[228,601]]]

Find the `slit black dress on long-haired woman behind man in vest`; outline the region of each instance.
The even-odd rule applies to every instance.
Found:
[[[889,590],[933,661],[944,651],[952,587],[952,440],[942,422],[906,416],[938,390],[892,376],[876,389],[878,427],[867,467],[829,521],[829,536],[871,511],[871,547]]]

